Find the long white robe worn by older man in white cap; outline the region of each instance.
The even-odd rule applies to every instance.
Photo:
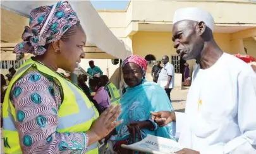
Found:
[[[200,154],[255,154],[256,74],[252,68],[224,53],[209,69],[198,65],[192,79],[179,143]],[[176,123],[181,123],[178,114]]]

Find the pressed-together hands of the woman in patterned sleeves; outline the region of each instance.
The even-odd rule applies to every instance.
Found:
[[[99,118],[94,121],[90,130],[87,132],[89,143],[91,145],[96,141],[107,136],[116,126],[123,123],[123,120],[116,121],[121,114],[121,106],[109,106]]]

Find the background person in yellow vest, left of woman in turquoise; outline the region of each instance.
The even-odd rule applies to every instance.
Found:
[[[111,104],[119,104],[121,100],[121,95],[119,93],[119,90],[116,88],[116,85],[114,85],[112,82],[109,82],[109,77],[107,77],[107,75],[102,75],[100,79],[102,85],[105,86],[105,89],[109,94]]]

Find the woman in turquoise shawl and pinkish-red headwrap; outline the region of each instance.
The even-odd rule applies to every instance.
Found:
[[[130,123],[138,124],[142,138],[150,134],[174,140],[172,123],[160,128],[151,120],[150,111],[173,111],[173,107],[164,89],[145,80],[146,71],[147,61],[138,55],[123,61],[123,79],[128,88],[120,103],[119,119],[123,119],[123,123],[116,127],[116,151],[120,150],[119,143],[128,141],[130,133],[126,124]]]

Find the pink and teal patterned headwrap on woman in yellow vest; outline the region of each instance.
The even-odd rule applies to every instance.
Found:
[[[24,53],[43,55],[45,45],[57,41],[73,25],[79,22],[75,11],[67,1],[60,1],[52,6],[40,6],[30,13],[29,26],[25,26],[23,42],[16,45],[16,59]]]

